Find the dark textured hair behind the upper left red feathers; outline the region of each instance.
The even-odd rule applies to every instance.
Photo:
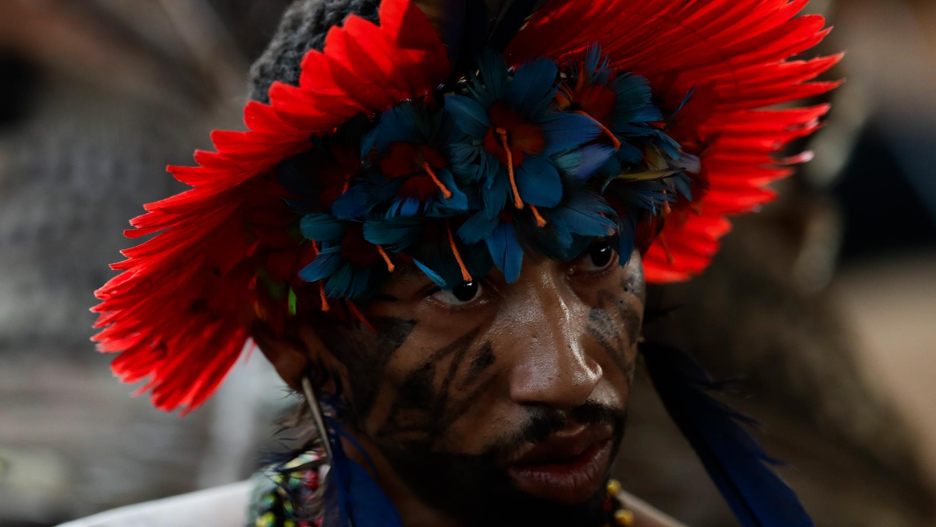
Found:
[[[333,25],[350,14],[377,22],[380,0],[296,0],[283,14],[270,45],[250,68],[250,98],[269,102],[274,81],[299,83],[302,57],[311,49],[322,51]]]

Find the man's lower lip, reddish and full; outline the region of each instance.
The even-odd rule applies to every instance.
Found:
[[[611,459],[611,441],[592,444],[575,458],[555,463],[513,465],[507,474],[518,489],[538,498],[580,504],[601,485]]]

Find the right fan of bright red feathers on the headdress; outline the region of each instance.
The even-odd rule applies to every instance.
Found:
[[[819,128],[827,106],[764,107],[823,94],[840,83],[810,83],[841,54],[789,60],[828,34],[807,0],[550,0],[506,50],[511,63],[559,59],[601,44],[611,66],[650,79],[669,111],[689,90],[670,135],[700,158],[694,201],[681,200],[644,256],[648,281],[701,273],[730,230],[725,218],[773,200],[765,185],[792,173],[775,158]],[[704,184],[702,184],[704,182]]]

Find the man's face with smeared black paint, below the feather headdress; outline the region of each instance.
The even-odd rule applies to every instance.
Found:
[[[618,260],[596,242],[452,291],[399,269],[365,308],[377,334],[318,330],[345,369],[349,430],[455,518],[600,522],[644,303],[639,255]]]

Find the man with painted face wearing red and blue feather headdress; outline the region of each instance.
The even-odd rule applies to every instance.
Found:
[[[161,233],[98,291],[95,339],[165,410],[248,337],[302,393],[314,433],[259,525],[671,524],[609,480],[644,274],[704,269],[826,112],[756,110],[835,85],[803,82],[837,56],[785,62],[825,35],[800,7],[300,1],[252,131],[132,221]],[[739,520],[810,524],[695,363],[644,352]]]

